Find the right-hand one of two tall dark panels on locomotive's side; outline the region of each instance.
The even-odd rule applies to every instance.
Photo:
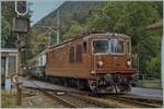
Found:
[[[75,47],[75,62],[82,62],[82,45]]]

